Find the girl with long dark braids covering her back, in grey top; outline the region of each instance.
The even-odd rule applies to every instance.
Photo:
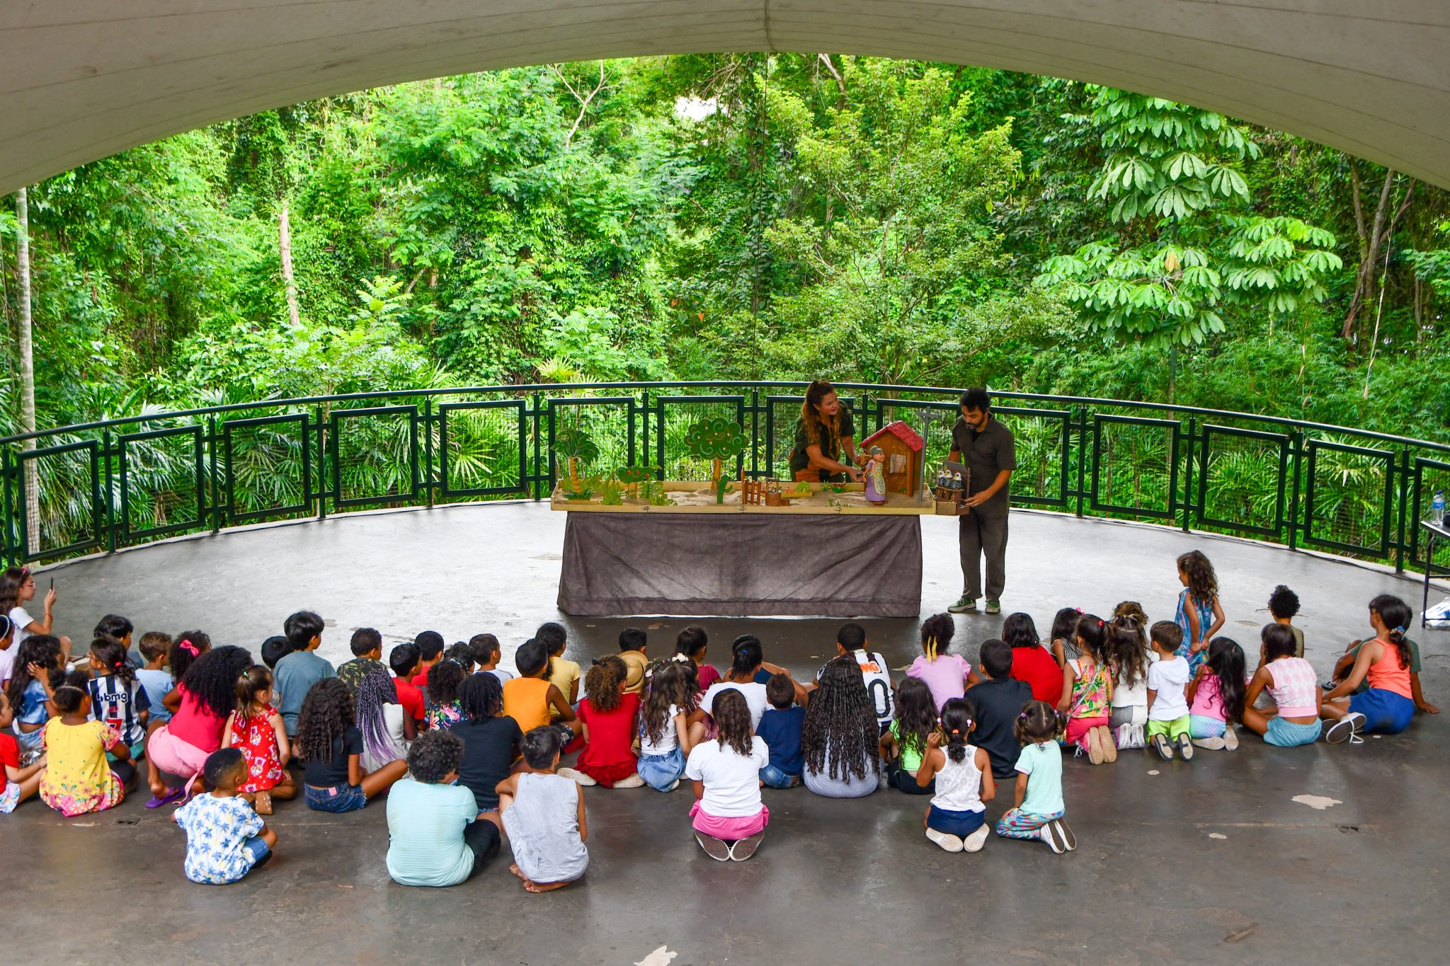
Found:
[[[876,705],[856,658],[828,660],[800,727],[805,786],[826,798],[874,792],[879,736]]]

